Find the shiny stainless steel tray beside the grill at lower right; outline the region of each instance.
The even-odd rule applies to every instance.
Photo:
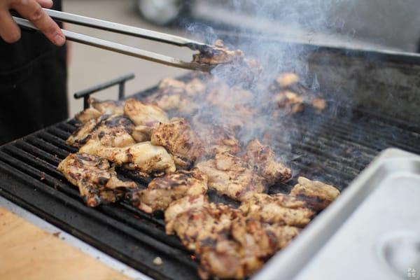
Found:
[[[420,157],[387,149],[254,279],[418,279],[419,199]]]

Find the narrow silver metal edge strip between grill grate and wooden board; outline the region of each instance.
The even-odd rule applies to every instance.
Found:
[[[58,232],[58,237],[59,239],[62,239],[62,241],[66,242],[67,244],[71,246],[78,248],[83,253],[86,253],[87,255],[92,256],[92,258],[96,258],[97,260],[99,260],[100,262],[103,262],[109,267],[112,267],[113,269],[118,270],[119,272],[123,273],[125,276],[130,277],[131,279],[151,280],[149,276],[141,272],[138,272],[132,267],[125,265],[123,262],[120,262],[116,260],[115,258],[110,257],[109,255],[106,255],[106,253],[103,253],[102,251],[99,251],[97,248],[94,248],[90,246],[89,244],[86,244],[85,242],[81,241],[80,239],[76,237],[73,237],[73,235],[69,235],[67,232],[60,230],[54,225],[51,225],[47,221],[44,221],[43,219],[39,218],[38,216],[35,216],[34,214],[31,214],[31,212],[26,211],[22,207],[19,207],[18,205],[6,200],[5,198],[1,196],[0,196],[0,207],[3,207],[7,209],[8,211],[12,212],[13,214],[20,216],[21,218],[25,219],[27,222],[33,225],[36,225],[38,228],[41,228],[41,230],[44,230],[45,232],[49,232],[50,234],[55,234],[55,235],[57,235],[57,232]]]

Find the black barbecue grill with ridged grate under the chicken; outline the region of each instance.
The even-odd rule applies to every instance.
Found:
[[[338,53],[327,48],[308,52],[312,55],[309,60],[315,71],[325,69],[316,63],[321,51],[333,57],[337,57]],[[395,56],[392,57],[395,59]],[[346,63],[349,60],[353,66],[371,63],[366,62],[365,57],[349,59],[349,52],[346,51],[334,67],[336,70],[348,67]],[[386,63],[388,68],[395,69],[397,65],[398,69],[404,69],[405,81],[409,80],[410,71],[415,68],[413,65],[406,66],[402,60],[385,60],[380,61]],[[363,73],[369,73],[368,69],[369,66],[366,66]],[[335,85],[340,77],[341,80],[347,79],[346,75],[337,76],[339,73],[330,67],[330,71],[320,79],[325,80],[325,84]],[[372,87],[386,87],[380,77],[381,73],[369,76],[374,80]],[[99,85],[78,96],[83,97],[94,90],[118,83],[122,97],[123,80]],[[371,90],[362,78],[358,79],[358,85],[363,87],[365,94]],[[141,99],[155,90],[154,87],[136,96]],[[403,94],[412,92],[413,88],[398,87],[398,90]],[[389,92],[387,90],[386,94]],[[288,139],[284,141],[281,134],[274,136],[274,149],[288,159],[295,173],[343,189],[385,148],[402,148],[420,154],[420,125],[413,122],[416,120],[415,112],[407,113],[405,118],[400,117],[401,110],[409,108],[415,101],[408,99],[405,102],[404,98],[395,97],[395,94],[394,98],[398,100],[398,108],[388,110],[387,114],[381,111],[386,109],[386,104],[371,110],[374,102],[366,98],[360,102],[355,95],[347,106],[337,104],[321,116],[305,111],[282,120],[282,134],[286,133]],[[86,207],[78,190],[56,171],[62,159],[69,153],[77,152],[76,148],[65,143],[71,132],[76,130],[75,125],[75,120],[67,120],[1,146],[0,195],[155,279],[197,279],[197,262],[183,248],[179,239],[165,235],[162,214],[145,214],[126,201],[101,205],[95,209]],[[139,183],[146,186],[145,182]],[[270,188],[269,192],[287,192],[294,184],[294,180],[281,183]],[[234,203],[213,192],[209,196],[213,201]],[[162,258],[163,265],[155,266],[153,259],[158,256]]]

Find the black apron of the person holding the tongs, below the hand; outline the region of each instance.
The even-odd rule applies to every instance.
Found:
[[[65,46],[28,31],[18,43],[0,38],[0,145],[68,117],[66,76]]]

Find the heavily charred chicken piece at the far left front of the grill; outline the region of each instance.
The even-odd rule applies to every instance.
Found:
[[[84,153],[70,154],[59,163],[57,169],[67,180],[78,186],[80,195],[90,207],[102,202],[116,202],[125,190],[137,188],[137,184],[121,181],[108,160]]]

